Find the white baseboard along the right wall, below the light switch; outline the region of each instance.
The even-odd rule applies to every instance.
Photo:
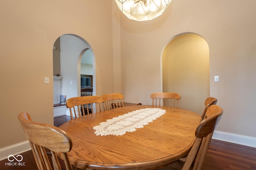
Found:
[[[227,133],[221,131],[214,131],[212,139],[217,139],[220,141],[226,141],[230,143],[236,143],[239,145],[245,145],[248,147],[256,148],[256,137],[238,135],[234,133]]]

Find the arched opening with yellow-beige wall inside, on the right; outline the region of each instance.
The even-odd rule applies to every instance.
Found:
[[[209,47],[199,35],[184,33],[166,45],[162,55],[163,92],[181,95],[179,107],[201,113],[210,96]]]

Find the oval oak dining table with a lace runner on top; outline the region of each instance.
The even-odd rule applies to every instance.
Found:
[[[97,135],[94,127],[132,111],[159,108],[166,112],[143,127],[122,135]],[[182,158],[192,148],[201,116],[165,106],[124,106],[84,115],[60,126],[72,139],[70,163],[81,169],[148,170]]]

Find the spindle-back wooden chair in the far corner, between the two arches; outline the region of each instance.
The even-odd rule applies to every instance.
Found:
[[[101,96],[103,100],[104,110],[114,109],[117,107],[123,107],[124,95],[120,93],[104,94]]]

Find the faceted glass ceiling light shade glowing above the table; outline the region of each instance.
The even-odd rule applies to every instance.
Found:
[[[120,11],[130,20],[148,21],[163,14],[172,0],[115,0]]]

